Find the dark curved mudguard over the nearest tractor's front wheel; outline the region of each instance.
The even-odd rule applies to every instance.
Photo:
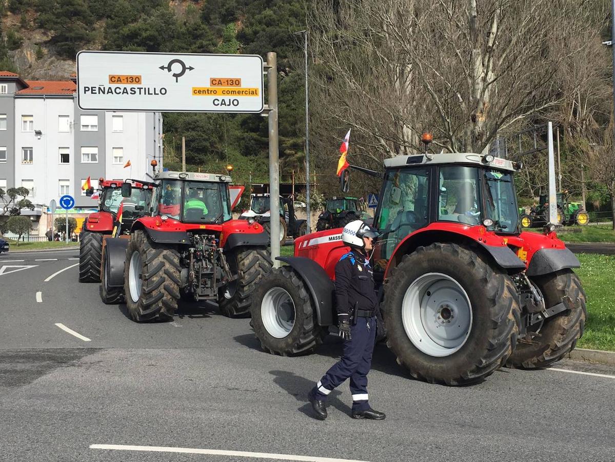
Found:
[[[322,266],[305,257],[276,257],[276,260],[291,266],[308,286],[315,303],[318,325],[332,325],[335,286]]]

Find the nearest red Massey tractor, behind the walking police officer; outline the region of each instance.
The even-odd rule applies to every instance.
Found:
[[[579,260],[554,225],[520,231],[520,165],[451,153],[393,157],[384,167],[370,260],[381,327],[400,365],[431,383],[468,384],[502,365],[543,367],[574,348],[587,316],[571,269]],[[296,239],[295,256],[279,258],[287,266],[261,280],[251,308],[265,351],[320,345],[337,322],[335,265],[348,250],[338,228]]]

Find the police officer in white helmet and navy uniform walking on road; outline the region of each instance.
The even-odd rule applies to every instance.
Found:
[[[383,420],[385,417],[370,407],[367,394],[378,309],[368,252],[376,236],[378,231],[361,220],[351,221],[342,231],[342,241],[351,248],[335,265],[339,337],[344,340],[344,351],[308,394],[314,412],[322,420],[327,418],[327,395],[347,378],[352,392],[352,418]]]

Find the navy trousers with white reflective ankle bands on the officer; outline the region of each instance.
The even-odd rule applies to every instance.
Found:
[[[326,400],[327,395],[350,378],[352,410],[360,412],[370,408],[367,395],[367,373],[371,368],[371,355],[376,340],[376,317],[359,317],[351,325],[351,340],[344,341],[341,359],[336,362],[312,389],[312,395]]]

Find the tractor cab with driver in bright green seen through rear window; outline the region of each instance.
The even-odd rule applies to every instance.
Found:
[[[232,219],[226,175],[161,172],[150,212],[182,223],[224,223]]]

